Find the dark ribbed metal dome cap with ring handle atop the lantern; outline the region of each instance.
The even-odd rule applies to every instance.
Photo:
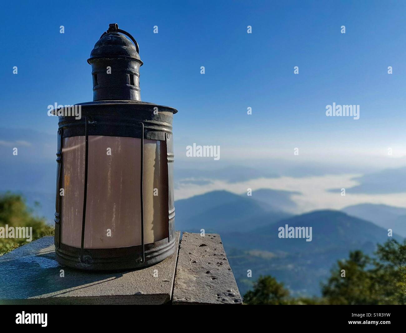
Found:
[[[134,42],[127,39],[125,34]],[[143,65],[140,59],[138,43],[129,33],[119,29],[117,23],[110,24],[108,30],[103,33],[100,39],[96,42],[90,58],[87,62],[90,64],[92,59],[134,59]]]

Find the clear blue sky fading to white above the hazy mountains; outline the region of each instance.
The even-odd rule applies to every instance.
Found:
[[[289,159],[295,147],[309,161],[355,155],[368,164],[371,156],[384,158],[387,147],[397,157],[406,155],[402,2],[3,6],[1,127],[55,134],[57,121],[47,116],[47,106],[92,100],[86,59],[108,24],[117,22],[140,45],[142,100],[179,110],[174,134],[180,158],[193,142],[220,145],[230,160],[247,154]],[[340,33],[342,25],[346,34]],[[333,102],[359,104],[360,119],[326,117],[325,107]]]

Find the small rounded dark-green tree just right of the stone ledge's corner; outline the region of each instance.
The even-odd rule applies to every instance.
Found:
[[[260,276],[254,289],[244,295],[244,304],[250,305],[283,305],[289,302],[289,290],[272,276]]]

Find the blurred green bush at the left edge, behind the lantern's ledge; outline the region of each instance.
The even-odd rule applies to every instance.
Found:
[[[32,227],[32,240],[54,235],[54,228],[43,218],[35,217],[22,196],[11,192],[0,195],[0,227],[6,224],[9,227]],[[24,244],[27,244],[26,239],[0,238],[0,256]]]

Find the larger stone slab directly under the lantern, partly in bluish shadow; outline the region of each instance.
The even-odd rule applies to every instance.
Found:
[[[0,257],[0,304],[165,304],[171,300],[176,250],[140,270],[85,272],[55,260],[54,237],[46,236]],[[65,277],[60,277],[64,270]],[[158,277],[154,277],[158,273]]]

